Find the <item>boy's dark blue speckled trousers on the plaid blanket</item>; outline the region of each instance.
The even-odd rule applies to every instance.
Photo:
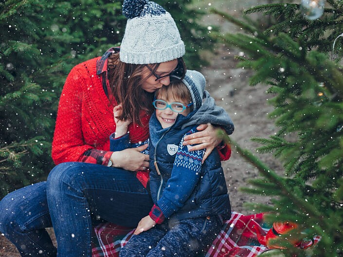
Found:
[[[119,257],[194,257],[211,246],[222,225],[219,215],[156,225],[133,235]]]

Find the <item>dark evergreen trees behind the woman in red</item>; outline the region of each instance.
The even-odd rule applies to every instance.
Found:
[[[196,22],[202,13],[188,0],[157,2],[179,26],[188,67],[199,67],[199,52],[210,44]],[[54,167],[51,142],[67,74],[119,45],[125,26],[122,1],[0,2],[0,197],[45,180]]]

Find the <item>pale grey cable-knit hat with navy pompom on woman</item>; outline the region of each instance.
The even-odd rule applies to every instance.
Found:
[[[120,60],[130,64],[162,63],[181,57],[185,50],[174,19],[148,0],[125,0],[128,18],[120,46]]]

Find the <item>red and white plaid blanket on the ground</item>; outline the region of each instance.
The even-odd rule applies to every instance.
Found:
[[[209,249],[197,257],[256,257],[269,250],[266,245],[258,242],[255,228],[267,234],[270,229],[265,227],[263,213],[243,215],[232,212],[231,219],[227,220],[217,238]],[[134,229],[101,223],[94,228],[95,238],[92,247],[92,257],[118,257],[120,249],[133,235]],[[304,242],[315,245],[321,239],[313,237],[313,241]],[[307,245],[302,244],[303,248]]]

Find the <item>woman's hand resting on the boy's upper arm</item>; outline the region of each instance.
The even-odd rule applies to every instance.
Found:
[[[204,163],[207,156],[212,153],[213,149],[217,147],[222,139],[219,138],[216,133],[217,128],[212,126],[210,123],[199,125],[197,130],[200,131],[184,137],[183,145],[196,144],[195,146],[189,147],[189,151],[206,148],[205,154],[202,158],[202,163]]]

